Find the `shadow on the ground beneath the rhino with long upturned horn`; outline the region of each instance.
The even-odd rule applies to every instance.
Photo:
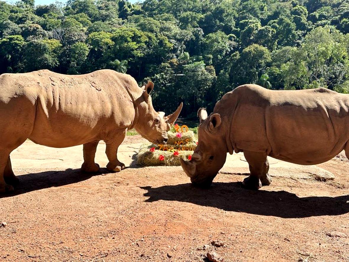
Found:
[[[29,173],[17,176],[20,184],[15,187],[15,191],[9,194],[0,194],[0,198],[21,195],[27,192],[49,188],[60,187],[87,180],[92,176],[110,173],[106,168],[99,168],[98,173],[84,173],[81,169],[68,168],[62,171],[45,171],[39,173]]]

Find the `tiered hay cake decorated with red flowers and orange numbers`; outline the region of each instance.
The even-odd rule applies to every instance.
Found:
[[[175,126],[179,131],[178,125]],[[168,131],[166,145],[143,144],[137,154],[137,163],[143,166],[180,166],[179,158],[190,160],[196,148],[193,131]]]

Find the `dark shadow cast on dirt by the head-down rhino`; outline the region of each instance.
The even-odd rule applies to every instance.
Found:
[[[209,189],[190,183],[141,188],[148,191],[144,193],[149,197],[146,202],[179,201],[263,216],[304,218],[349,212],[349,195],[298,197],[287,191],[247,190],[241,182],[216,182]]]

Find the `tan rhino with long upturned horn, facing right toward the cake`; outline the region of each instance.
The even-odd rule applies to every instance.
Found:
[[[83,144],[84,172],[98,171],[94,159],[100,140],[106,144],[107,169],[124,169],[117,152],[129,129],[150,142],[166,143],[183,103],[164,117],[153,108],[153,88],[151,81],[139,87],[130,75],[113,70],[0,75],[0,192],[18,183],[9,155],[28,138],[50,147]]]

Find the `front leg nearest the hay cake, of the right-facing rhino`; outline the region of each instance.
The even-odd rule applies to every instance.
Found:
[[[105,154],[109,160],[107,164],[107,169],[114,172],[120,172],[125,168],[125,164],[121,163],[118,160],[118,148],[124,141],[126,136],[127,129],[116,132],[114,135],[111,135],[110,138],[105,140]]]

